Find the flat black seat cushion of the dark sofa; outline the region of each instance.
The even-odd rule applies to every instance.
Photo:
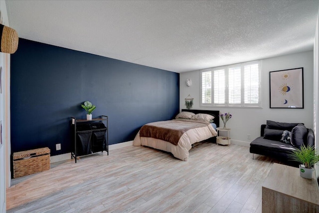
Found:
[[[291,154],[293,150],[297,150],[296,147],[294,147],[291,144],[284,144],[280,141],[272,141],[268,139],[264,139],[263,137],[258,137],[255,140],[253,140],[250,143],[251,147],[254,147],[255,149],[258,148],[259,150],[272,150],[274,152],[283,152]]]

